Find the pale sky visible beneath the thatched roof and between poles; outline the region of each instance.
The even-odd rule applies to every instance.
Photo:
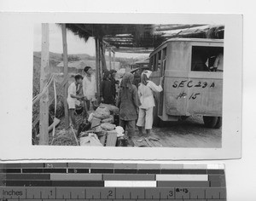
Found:
[[[41,51],[41,41],[42,32],[41,24],[34,25],[34,40],[33,40],[33,50]],[[62,35],[61,26],[56,24],[49,24],[49,51],[55,53],[63,53],[62,48]],[[95,40],[90,37],[85,43],[84,39],[75,36],[73,32],[67,30],[67,54],[88,54],[91,56],[95,55]],[[108,53],[106,53],[108,55]],[[116,57],[127,57],[127,58],[137,58],[140,56],[147,56],[148,54],[128,54],[116,52]]]

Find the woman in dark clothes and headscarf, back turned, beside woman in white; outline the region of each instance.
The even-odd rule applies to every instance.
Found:
[[[127,130],[129,140],[135,133],[135,121],[139,107],[137,88],[132,84],[134,76],[126,72],[121,83],[117,106],[119,107],[119,125]]]

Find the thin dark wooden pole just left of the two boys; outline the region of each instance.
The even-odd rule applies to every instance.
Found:
[[[68,77],[66,24],[61,25],[61,32],[62,32],[63,65],[64,65],[64,80],[65,80]],[[68,108],[67,108],[67,88],[68,88],[68,82],[64,84],[65,129],[68,129],[69,127]]]

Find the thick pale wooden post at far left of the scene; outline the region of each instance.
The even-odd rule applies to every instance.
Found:
[[[42,24],[42,52],[40,71],[40,91],[49,78],[49,24]],[[49,89],[40,100],[39,145],[49,145]]]

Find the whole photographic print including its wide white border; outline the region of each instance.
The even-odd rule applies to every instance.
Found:
[[[242,15],[2,15],[29,86],[2,159],[241,158]]]

